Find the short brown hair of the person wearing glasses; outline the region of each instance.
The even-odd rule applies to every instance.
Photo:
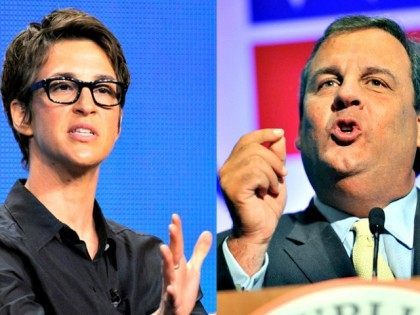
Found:
[[[30,23],[7,48],[1,81],[4,110],[22,151],[24,167],[29,163],[29,137],[13,128],[11,102],[16,99],[22,104],[25,122],[30,123],[30,86],[46,62],[50,47],[62,39],[78,38],[89,39],[99,45],[109,58],[117,80],[127,86],[130,83],[130,73],[118,39],[97,18],[77,9],[62,9],[46,15],[41,23]]]

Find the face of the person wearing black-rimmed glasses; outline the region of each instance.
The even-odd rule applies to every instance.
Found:
[[[50,48],[37,81],[60,76],[82,81],[117,79],[105,52],[90,40],[62,40]],[[28,131],[33,136],[31,164],[37,160],[64,167],[97,166],[108,156],[119,135],[120,106],[98,107],[88,88],[83,88],[71,105],[53,103],[44,89],[36,90],[32,108]]]

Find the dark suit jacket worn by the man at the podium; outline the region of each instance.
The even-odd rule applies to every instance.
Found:
[[[223,240],[229,234],[230,231],[222,232],[217,239],[218,290],[234,289],[222,250]],[[268,255],[270,261],[264,287],[356,276],[340,239],[313,201],[305,211],[282,215],[268,247]],[[414,223],[413,275],[420,275],[420,198]]]

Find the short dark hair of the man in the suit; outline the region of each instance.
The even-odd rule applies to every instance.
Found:
[[[309,69],[322,44],[330,37],[358,30],[377,28],[394,36],[405,48],[411,62],[411,77],[414,87],[414,108],[420,114],[420,45],[408,38],[404,30],[395,21],[384,17],[369,17],[364,15],[345,16],[335,20],[325,30],[322,37],[315,43],[312,53],[301,74],[299,93],[299,119],[303,117],[305,91],[308,83]],[[420,153],[417,149],[414,163],[416,174],[420,173]]]

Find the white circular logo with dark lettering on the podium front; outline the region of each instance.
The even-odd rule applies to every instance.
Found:
[[[296,289],[253,314],[420,315],[419,284],[339,279]]]

